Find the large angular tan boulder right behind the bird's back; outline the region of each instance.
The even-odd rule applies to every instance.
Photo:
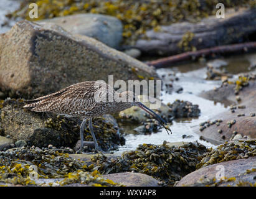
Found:
[[[17,22],[0,35],[0,88],[9,96],[34,98],[80,81],[157,78],[148,67],[125,53],[58,25]]]

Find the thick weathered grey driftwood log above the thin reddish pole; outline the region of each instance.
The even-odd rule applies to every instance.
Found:
[[[240,9],[229,11],[224,19],[211,16],[201,22],[181,22],[161,26],[161,31],[148,30],[148,39],[139,39],[135,48],[144,54],[175,55],[182,53],[179,42],[188,32],[192,40],[188,45],[197,50],[208,49],[219,45],[238,44],[254,41],[256,37],[256,9]]]

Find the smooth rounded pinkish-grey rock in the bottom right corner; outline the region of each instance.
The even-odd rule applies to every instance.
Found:
[[[176,187],[183,186],[256,186],[256,157],[209,165],[183,177]],[[222,180],[220,178],[222,177]]]

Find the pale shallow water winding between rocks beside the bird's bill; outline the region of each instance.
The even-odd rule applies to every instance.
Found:
[[[237,74],[240,72],[247,72],[249,65],[255,63],[256,53],[240,55],[235,57],[223,58],[227,62],[225,67],[229,73]],[[211,60],[212,61],[212,60]],[[126,144],[120,147],[120,151],[134,150],[138,144],[163,144],[163,141],[168,142],[194,142],[198,141],[207,147],[214,147],[209,142],[201,141],[198,134],[192,132],[192,126],[198,126],[200,123],[207,121],[212,116],[222,113],[227,109],[227,105],[230,102],[216,103],[208,99],[199,97],[198,95],[202,91],[208,91],[214,89],[214,87],[219,87],[221,81],[205,80],[206,78],[206,62],[195,62],[178,65],[172,68],[160,68],[157,70],[159,76],[166,75],[168,73],[176,72],[176,76],[179,77],[178,81],[174,81],[176,85],[183,87],[182,93],[171,93],[168,94],[165,91],[162,92],[161,99],[163,103],[173,103],[175,99],[187,100],[192,104],[198,104],[199,109],[201,109],[201,115],[199,118],[184,118],[173,121],[171,125],[171,130],[173,134],[168,134],[164,129],[153,134],[127,134],[125,136]],[[171,82],[168,81],[167,77],[163,78],[163,84]],[[235,77],[235,76],[234,76]],[[190,138],[183,139],[183,135],[192,136]]]

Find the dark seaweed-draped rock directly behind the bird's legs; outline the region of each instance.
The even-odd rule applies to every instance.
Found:
[[[80,119],[64,118],[49,113],[36,113],[24,109],[22,99],[0,101],[0,128],[4,136],[9,135],[14,142],[24,140],[29,146],[73,147],[80,139]],[[116,139],[115,124],[103,118],[93,119],[95,136],[103,150],[116,149],[120,140]],[[85,141],[93,141],[88,125],[84,131]],[[94,147],[88,147],[92,150]]]

